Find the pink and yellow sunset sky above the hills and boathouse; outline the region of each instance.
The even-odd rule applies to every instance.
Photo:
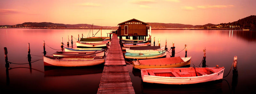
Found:
[[[256,0],[0,0],[0,25],[24,22],[117,26],[146,23],[220,24],[256,15]]]

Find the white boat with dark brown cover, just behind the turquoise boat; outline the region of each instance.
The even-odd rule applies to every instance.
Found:
[[[140,46],[140,47],[130,47],[125,49],[126,52],[130,53],[144,53],[144,52],[152,52],[152,51],[163,51],[164,47],[160,46]]]

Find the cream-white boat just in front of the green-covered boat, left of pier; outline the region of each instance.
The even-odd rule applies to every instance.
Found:
[[[76,42],[77,48],[104,48],[107,47],[107,44],[87,44]]]

